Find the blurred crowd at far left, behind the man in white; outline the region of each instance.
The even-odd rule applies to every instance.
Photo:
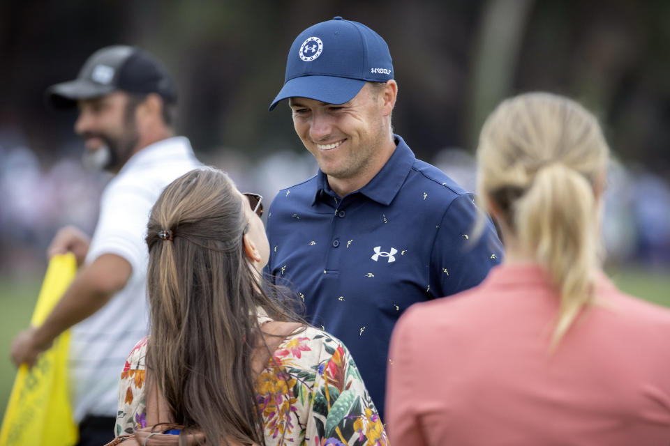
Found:
[[[109,177],[64,158],[44,166],[26,146],[0,145],[0,271],[32,272],[46,263],[46,248],[67,224],[88,234]]]

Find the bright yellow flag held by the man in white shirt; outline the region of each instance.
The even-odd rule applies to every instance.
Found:
[[[75,277],[72,253],[49,262],[31,324],[41,325]],[[23,364],[17,373],[0,429],[1,446],[72,446],[79,429],[69,398],[67,360],[70,330],[54,340],[32,369]]]

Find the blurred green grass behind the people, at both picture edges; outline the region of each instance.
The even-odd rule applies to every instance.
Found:
[[[607,274],[623,291],[670,307],[670,274],[667,271],[617,267],[608,268]],[[10,343],[30,321],[41,280],[41,277],[30,276],[20,279],[0,277],[0,420],[16,375],[9,359]]]

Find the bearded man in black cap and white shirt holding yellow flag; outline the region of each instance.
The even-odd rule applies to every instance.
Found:
[[[75,132],[86,145],[84,164],[115,176],[93,238],[71,226],[54,237],[48,255],[74,252],[80,268],[43,325],[17,335],[12,359],[31,366],[72,327],[68,371],[80,445],[102,445],[114,438],[124,361],[147,330],[149,212],[166,185],[200,163],[188,139],[174,136],[172,78],[142,49],[98,50],[77,79],[50,87],[47,99],[79,108]]]

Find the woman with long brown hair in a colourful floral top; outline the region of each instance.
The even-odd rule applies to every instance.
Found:
[[[162,432],[156,422],[174,422],[188,444],[387,443],[345,346],[265,291],[261,199],[201,169],[168,185],[151,210],[151,334],[121,375],[117,436],[140,431],[144,441]],[[146,444],[167,440],[177,436],[154,433]]]

